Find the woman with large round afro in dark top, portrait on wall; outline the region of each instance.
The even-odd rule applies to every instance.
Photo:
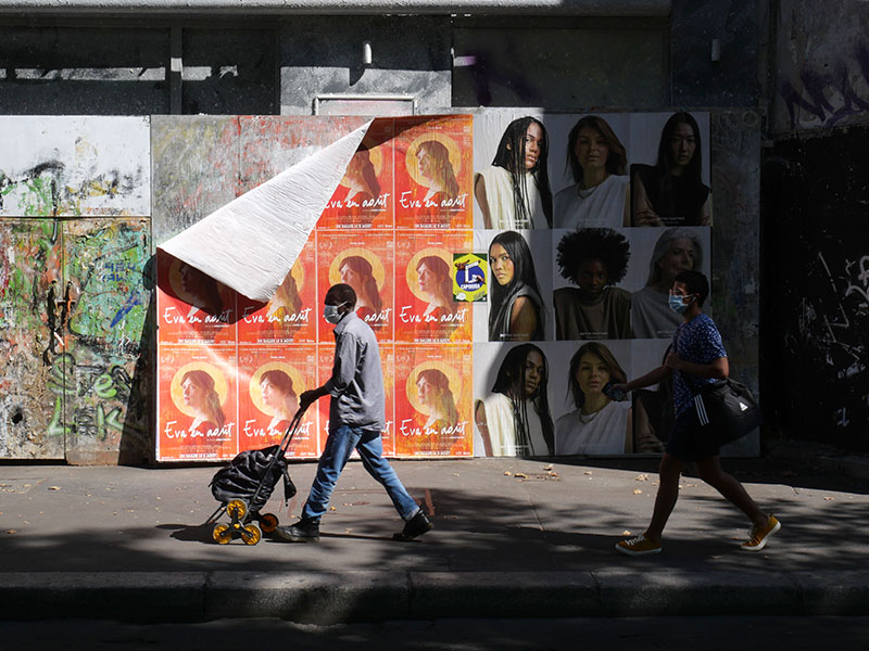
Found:
[[[613,229],[583,228],[558,242],[556,263],[574,286],[553,293],[555,339],[630,339],[631,295],[614,286],[628,269],[628,240]]]

